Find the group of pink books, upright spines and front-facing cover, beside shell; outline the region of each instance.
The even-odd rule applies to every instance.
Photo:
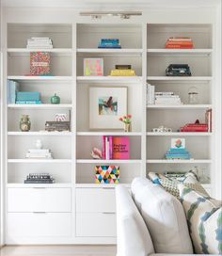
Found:
[[[103,159],[130,159],[130,138],[103,136]]]

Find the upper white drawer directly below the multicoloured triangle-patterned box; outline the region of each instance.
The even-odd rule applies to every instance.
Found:
[[[115,188],[77,188],[76,212],[116,212]]]

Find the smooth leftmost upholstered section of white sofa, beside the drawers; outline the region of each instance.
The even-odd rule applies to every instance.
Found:
[[[147,256],[154,252],[151,235],[125,186],[116,188],[118,256]]]

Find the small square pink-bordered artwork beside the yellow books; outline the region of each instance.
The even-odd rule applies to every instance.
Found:
[[[103,58],[84,58],[84,75],[103,75]]]

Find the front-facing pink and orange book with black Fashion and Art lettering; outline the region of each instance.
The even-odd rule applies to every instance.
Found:
[[[113,159],[130,159],[130,138],[128,136],[113,137]]]

